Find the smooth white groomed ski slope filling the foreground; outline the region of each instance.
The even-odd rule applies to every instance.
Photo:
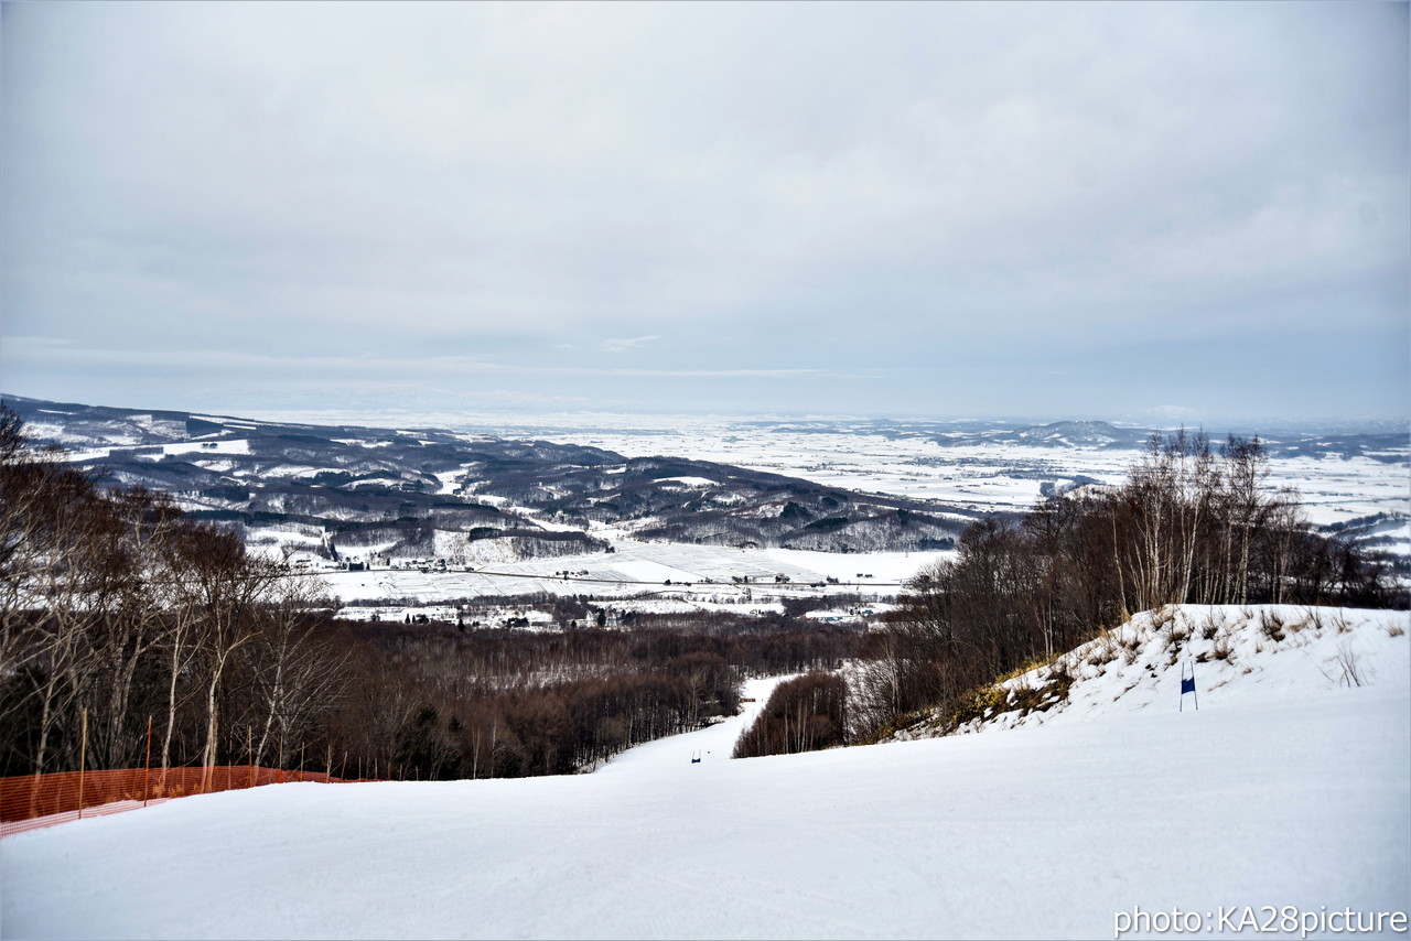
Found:
[[[18,834],[0,933],[1101,938],[1175,907],[1222,937],[1221,907],[1405,911],[1407,615],[1273,643],[1260,612],[1184,612],[1188,643],[1212,619],[1235,650],[1197,666],[1198,711],[1143,615],[1140,655],[1038,727],[729,760],[737,717],[593,775],[281,784]]]

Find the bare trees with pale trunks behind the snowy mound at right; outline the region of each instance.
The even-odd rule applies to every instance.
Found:
[[[1259,439],[1216,453],[1199,435],[1151,436],[1113,488],[989,516],[958,556],[909,583],[869,639],[856,688],[862,734],[945,705],[978,684],[1165,604],[1403,602],[1387,561],[1315,533],[1298,495],[1267,487]]]

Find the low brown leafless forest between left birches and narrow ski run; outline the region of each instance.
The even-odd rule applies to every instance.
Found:
[[[748,676],[837,669],[858,631],[721,615],[555,632],[360,624],[333,738],[350,773],[519,777],[591,767],[738,710]],[[337,767],[334,767],[337,770]]]

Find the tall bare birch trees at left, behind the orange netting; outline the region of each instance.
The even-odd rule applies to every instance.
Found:
[[[337,703],[327,598],[0,406],[0,773],[275,763]],[[80,741],[80,717],[87,734]],[[238,748],[236,743],[238,741]]]

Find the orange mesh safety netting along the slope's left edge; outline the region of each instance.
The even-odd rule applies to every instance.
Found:
[[[0,777],[0,821],[48,817],[123,800],[188,797],[285,782],[344,783],[346,780],[322,772],[289,772],[258,765],[23,775]]]

